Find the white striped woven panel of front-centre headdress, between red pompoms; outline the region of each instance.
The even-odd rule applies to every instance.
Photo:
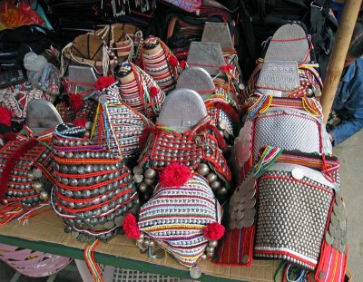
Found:
[[[192,267],[208,245],[203,229],[213,222],[221,222],[221,205],[208,181],[195,174],[181,187],[159,185],[142,206],[138,225],[182,265]]]

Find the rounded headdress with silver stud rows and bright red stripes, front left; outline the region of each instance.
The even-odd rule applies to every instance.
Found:
[[[137,209],[130,170],[72,124],[56,127],[53,148],[56,186],[51,202],[64,219],[64,231],[82,243],[113,238],[125,212]]]

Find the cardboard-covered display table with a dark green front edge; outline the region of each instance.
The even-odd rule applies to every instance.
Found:
[[[31,248],[55,255],[83,259],[85,244],[64,233],[64,224],[53,211],[30,219],[29,224],[12,222],[0,227],[0,243]],[[118,235],[107,244],[101,243],[95,251],[95,260],[104,265],[135,269],[164,276],[191,278],[189,271],[171,256],[152,259],[142,254],[134,241]],[[280,261],[254,260],[252,267],[219,266],[210,261],[201,262],[201,281],[273,281]]]

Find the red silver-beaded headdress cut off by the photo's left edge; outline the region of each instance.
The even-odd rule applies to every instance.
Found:
[[[32,208],[49,199],[52,188],[53,151],[50,139],[11,136],[0,150],[1,198]]]

